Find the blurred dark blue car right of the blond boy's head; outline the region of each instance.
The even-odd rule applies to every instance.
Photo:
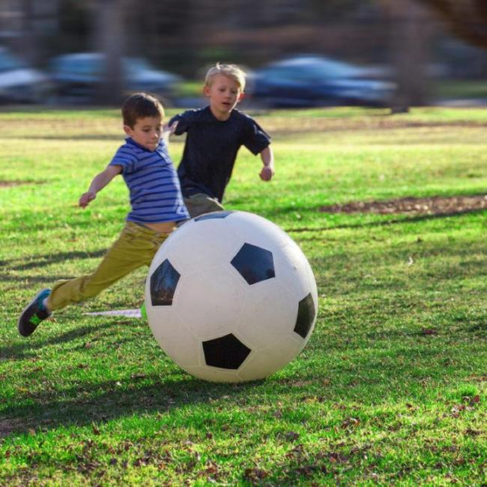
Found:
[[[396,86],[378,74],[324,56],[286,58],[250,74],[250,100],[269,107],[387,106]]]

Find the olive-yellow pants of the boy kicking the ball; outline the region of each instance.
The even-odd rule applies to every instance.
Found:
[[[143,225],[128,221],[118,240],[93,273],[56,282],[47,299],[49,310],[59,310],[71,303],[93,298],[139,267],[150,266],[152,258],[167,237],[166,233],[154,232]]]

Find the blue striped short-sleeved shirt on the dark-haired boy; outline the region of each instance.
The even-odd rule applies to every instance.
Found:
[[[127,137],[109,165],[122,167],[130,193],[127,221],[144,224],[189,218],[179,178],[162,139],[157,149],[150,151]]]

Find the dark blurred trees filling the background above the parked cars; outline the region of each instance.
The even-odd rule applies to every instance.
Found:
[[[9,0],[8,5],[10,14],[17,6],[21,19],[19,35],[8,42],[38,65],[66,52],[109,54],[109,83],[100,93],[106,102],[120,93],[122,54],[200,79],[200,71],[216,61],[253,68],[285,54],[312,52],[394,67],[398,104],[423,104],[427,70],[447,64],[452,55],[443,47],[454,43],[447,41],[445,25],[465,42],[487,47],[486,0]],[[3,24],[10,15],[5,8],[0,5]],[[465,75],[477,69],[485,76],[486,61],[473,58],[473,65],[463,67]]]

